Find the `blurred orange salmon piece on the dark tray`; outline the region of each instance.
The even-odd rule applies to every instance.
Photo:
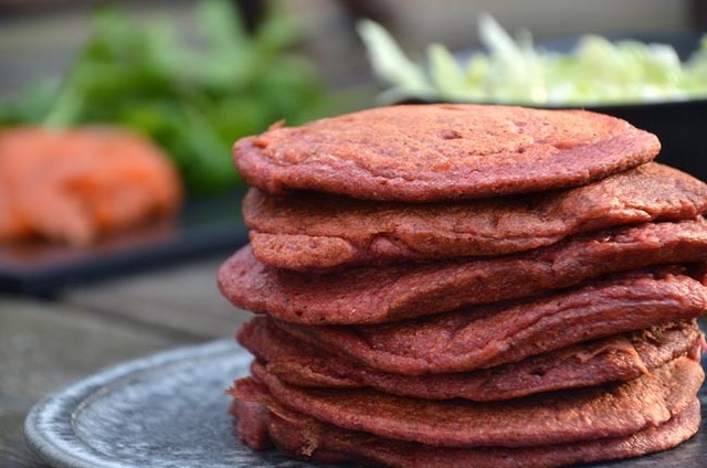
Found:
[[[0,132],[0,241],[40,236],[87,245],[183,198],[167,156],[127,130],[11,128]]]

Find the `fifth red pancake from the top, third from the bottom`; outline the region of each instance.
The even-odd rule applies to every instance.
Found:
[[[380,372],[285,333],[265,317],[238,333],[243,347],[281,381],[306,387],[372,387],[400,396],[478,402],[629,381],[682,355],[699,355],[695,321],[651,327],[579,343],[513,364],[454,374],[407,376]],[[699,360],[699,358],[696,358]]]

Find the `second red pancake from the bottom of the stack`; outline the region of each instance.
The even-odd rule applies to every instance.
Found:
[[[532,447],[630,436],[668,422],[695,400],[699,363],[678,358],[630,382],[505,402],[475,403],[393,396],[373,390],[313,390],[287,385],[264,368],[236,381],[234,396],[263,384],[288,410],[351,430],[439,447]]]

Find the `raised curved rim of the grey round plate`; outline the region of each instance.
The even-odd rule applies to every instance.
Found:
[[[23,435],[29,448],[42,460],[60,468],[133,468],[107,457],[86,444],[74,430],[78,413],[93,398],[109,393],[126,381],[151,370],[186,365],[193,361],[229,354],[247,363],[252,355],[233,339],[180,347],[122,362],[68,384],[40,400],[28,413]]]

